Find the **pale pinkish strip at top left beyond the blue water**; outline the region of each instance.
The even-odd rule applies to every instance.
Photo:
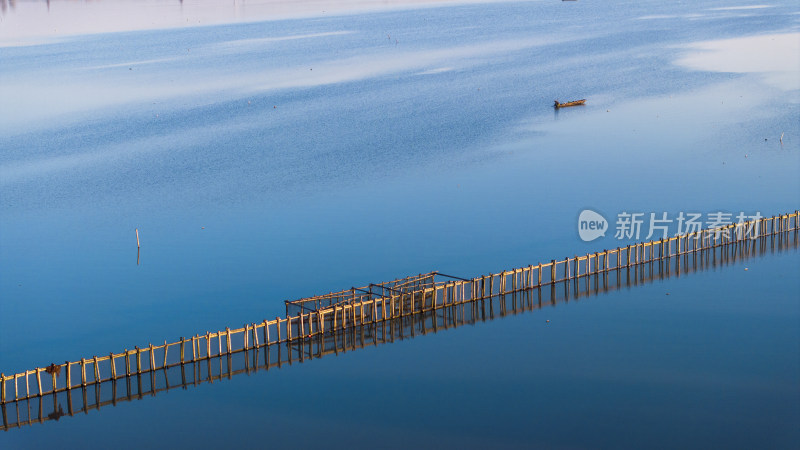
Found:
[[[0,47],[84,34],[184,28],[515,0],[0,0]]]

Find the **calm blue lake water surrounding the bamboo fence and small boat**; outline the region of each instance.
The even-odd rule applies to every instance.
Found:
[[[800,204],[796,2],[243,14],[38,37],[0,23],[0,371],[631,241],[581,241],[587,208],[614,226]],[[791,245],[0,447],[796,448],[799,263]]]

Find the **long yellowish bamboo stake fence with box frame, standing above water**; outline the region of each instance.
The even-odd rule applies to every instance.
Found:
[[[0,374],[0,404],[41,397],[77,387],[90,386],[107,380],[141,375],[156,369],[165,369],[214,356],[230,355],[233,352],[293,342],[322,335],[326,332],[347,329],[356,325],[376,324],[428,311],[435,311],[455,304],[490,298],[496,295],[535,289],[587,275],[607,273],[656,260],[675,258],[679,267],[679,256],[687,256],[708,248],[740,245],[753,241],[756,235],[772,235],[782,231],[798,229],[798,212],[762,218],[755,222],[733,224],[725,227],[702,230],[669,239],[642,242],[613,250],[604,250],[552,260],[499,274],[490,274],[472,279],[436,280],[437,273],[395,280],[382,286],[380,292],[361,292],[355,288],[336,294],[311,298],[308,302],[314,309],[301,308],[296,315],[287,315],[275,320],[246,324],[242,328],[191,338],[163,345],[134,347],[122,353],[93,356],[80,361],[52,364],[11,376]],[[440,277],[441,278],[441,277]],[[391,286],[414,286],[413,289],[395,289]],[[376,289],[375,291],[378,291]],[[324,301],[323,301],[324,300]],[[292,303],[292,302],[290,302]],[[287,308],[288,308],[287,304]],[[44,375],[43,375],[44,374]],[[44,380],[43,380],[44,377]]]

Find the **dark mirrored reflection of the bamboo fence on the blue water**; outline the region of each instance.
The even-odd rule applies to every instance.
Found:
[[[786,237],[786,239],[783,239],[784,237],[786,237],[785,234],[772,235],[771,243],[773,250],[775,249],[776,242],[779,243],[779,249],[790,247],[789,238]],[[794,240],[791,244],[794,245],[794,248],[797,248],[798,243],[800,243],[800,239],[798,239],[797,234],[794,234]],[[262,342],[261,336],[263,335],[259,333],[256,335],[257,337],[251,336],[251,338],[253,338],[253,345],[247,350],[234,350],[232,354],[228,354],[227,350],[224,350],[219,353],[219,356],[213,356],[205,360],[198,359],[197,361],[180,365],[180,367],[171,367],[172,370],[158,369],[150,371],[148,386],[143,386],[143,382],[147,381],[146,373],[134,374],[129,378],[123,377],[120,379],[106,380],[102,386],[107,389],[108,385],[110,385],[111,399],[109,400],[101,399],[101,384],[94,385],[94,402],[89,401],[91,396],[89,395],[90,391],[87,391],[87,389],[91,389],[91,387],[80,386],[83,406],[82,408],[79,407],[77,410],[73,405],[73,390],[67,390],[65,393],[61,393],[62,396],[59,399],[54,395],[52,412],[49,414],[44,412],[45,403],[43,399],[46,395],[33,396],[30,399],[14,402],[15,406],[13,408],[16,410],[16,421],[13,420],[14,409],[11,409],[11,413],[9,413],[9,408],[7,408],[6,404],[3,404],[0,405],[3,418],[2,427],[0,427],[0,429],[8,430],[22,425],[42,423],[48,420],[58,419],[67,414],[72,416],[80,412],[100,409],[109,404],[116,404],[117,401],[142,399],[146,395],[155,395],[169,389],[197,386],[204,382],[213,383],[225,378],[232,378],[232,376],[235,375],[251,373],[262,369],[270,370],[275,367],[281,368],[281,366],[287,362],[289,364],[298,362],[298,360],[299,362],[304,362],[326,355],[394,342],[395,339],[403,340],[430,333],[437,333],[454,327],[492,320],[496,317],[505,317],[506,315],[520,314],[541,309],[544,306],[555,305],[561,301],[580,299],[582,297],[596,295],[599,292],[621,289],[631,284],[635,285],[651,282],[656,279],[663,279],[674,275],[679,276],[681,273],[688,273],[690,268],[703,270],[720,264],[728,264],[756,256],[759,253],[767,251],[766,244],[766,240],[761,239],[759,241],[753,241],[752,245],[709,247],[705,250],[690,254],[688,263],[682,265],[680,271],[673,271],[671,264],[641,264],[612,272],[600,272],[594,276],[585,277],[581,279],[580,282],[576,280],[574,283],[562,283],[564,287],[563,291],[562,289],[556,289],[556,284],[552,284],[551,289],[549,289],[550,292],[544,295],[542,289],[523,289],[514,292],[513,284],[520,284],[520,274],[523,273],[521,269],[516,269],[516,281],[513,281],[514,278],[511,279],[512,292],[501,296],[488,297],[485,299],[486,301],[472,301],[456,305],[448,304],[448,306],[443,308],[435,310],[428,309],[424,313],[416,314],[410,318],[411,320],[396,318],[394,320],[366,323],[364,326],[348,327],[346,329],[337,328],[334,332],[324,332],[315,335],[313,338],[302,340],[284,341],[280,345],[257,345],[255,339],[258,339],[259,343]],[[616,274],[616,276],[613,274]],[[365,309],[365,313],[368,312],[368,308]],[[328,322],[330,323],[330,321]],[[248,328],[252,332],[253,324],[248,324]],[[268,330],[268,328],[262,329],[262,331],[265,330]],[[222,332],[222,340],[226,340],[225,332]],[[190,341],[191,340],[188,340],[187,342]],[[207,348],[208,346],[206,349]],[[237,359],[237,367],[244,365],[244,368],[234,370],[232,358]],[[218,362],[218,370],[212,368],[212,361],[214,359]],[[227,364],[223,364],[223,359],[226,360]],[[93,359],[87,359],[86,361],[87,363],[91,363]],[[216,367],[216,364],[214,364],[214,367]],[[174,379],[175,370],[180,370],[180,381],[177,384]],[[191,373],[187,375],[187,371],[191,371]],[[170,373],[172,373],[172,375],[170,375]],[[123,383],[122,380],[125,380],[124,384],[121,385],[123,389],[120,395],[118,395],[117,383]],[[132,380],[134,381],[133,386],[131,383]],[[76,389],[78,388],[76,387]],[[109,390],[102,390],[102,392],[108,393]],[[33,403],[35,411],[32,413],[31,402],[35,401],[33,399],[37,398],[38,407],[36,403]],[[64,400],[66,401],[64,402]],[[23,414],[23,416],[21,416],[20,406],[23,406],[22,412],[24,413],[24,406],[26,403],[28,406],[28,413],[27,415]],[[65,406],[62,407],[62,404],[65,404]],[[63,409],[66,409],[67,412],[64,412]],[[24,420],[23,417],[25,418]]]

